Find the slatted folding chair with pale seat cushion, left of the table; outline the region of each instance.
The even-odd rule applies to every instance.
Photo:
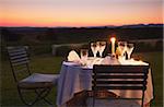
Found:
[[[46,96],[57,84],[59,74],[32,73],[28,66],[27,47],[25,46],[7,47],[7,50],[21,100],[27,106],[33,106],[42,99],[52,105]],[[28,97],[25,96],[28,92],[35,94],[35,96],[31,96],[32,100],[28,100]]]

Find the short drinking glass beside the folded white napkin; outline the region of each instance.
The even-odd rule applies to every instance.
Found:
[[[84,66],[87,62],[87,56],[89,56],[89,50],[87,49],[81,49],[80,50],[81,61],[82,61],[82,64],[84,64]]]

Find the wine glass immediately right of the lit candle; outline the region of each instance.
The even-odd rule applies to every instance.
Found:
[[[120,51],[121,58],[125,58],[125,52],[127,50],[127,41],[118,41],[118,49]]]

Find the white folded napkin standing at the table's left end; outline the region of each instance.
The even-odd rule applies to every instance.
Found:
[[[80,62],[80,57],[79,57],[79,55],[74,50],[71,50],[69,52],[67,59],[68,59],[68,61]]]

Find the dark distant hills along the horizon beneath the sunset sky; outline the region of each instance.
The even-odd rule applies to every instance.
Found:
[[[117,39],[163,38],[163,24],[89,27],[0,27],[2,44],[62,44]]]

